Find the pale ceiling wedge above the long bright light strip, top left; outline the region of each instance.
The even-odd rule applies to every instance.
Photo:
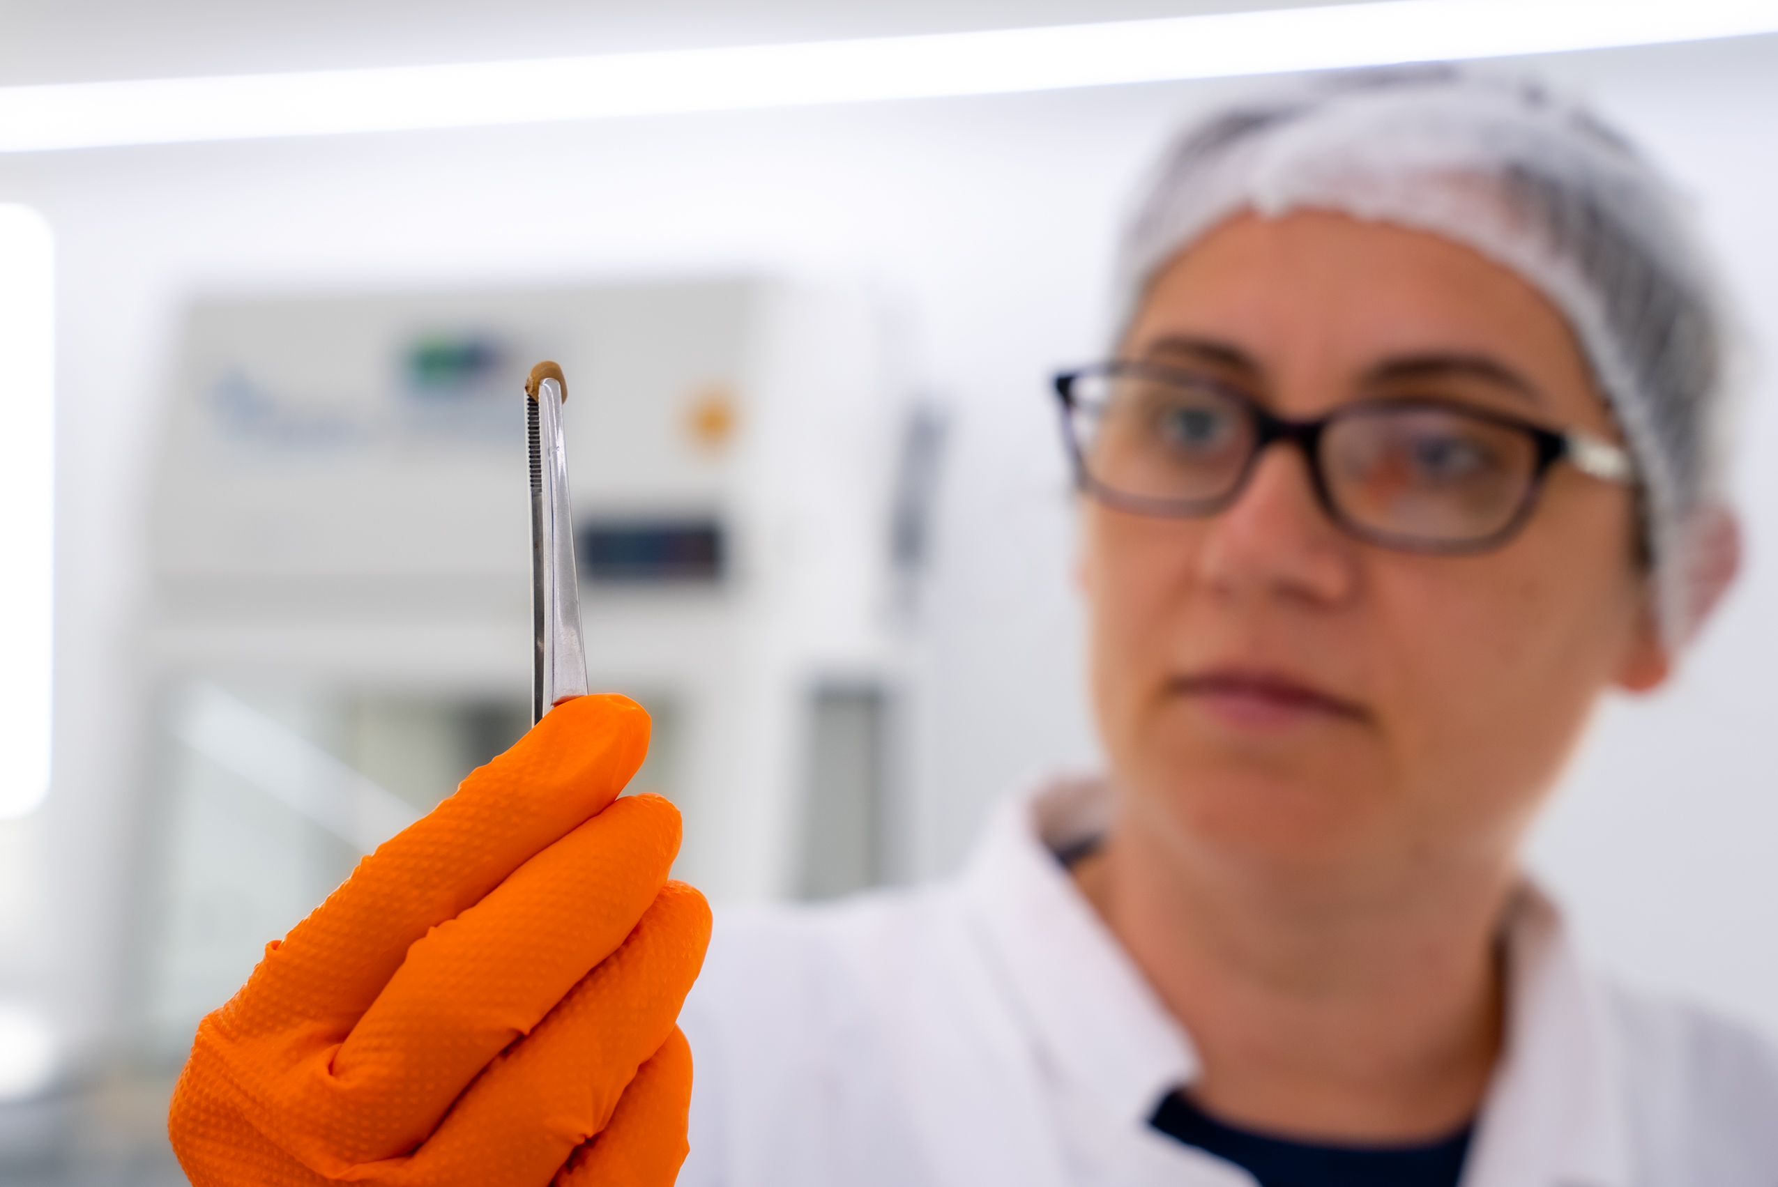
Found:
[[[0,85],[1063,25],[1334,0],[0,0]]]

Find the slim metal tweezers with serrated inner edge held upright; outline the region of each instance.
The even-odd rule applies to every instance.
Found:
[[[525,430],[532,446],[532,723],[569,697],[587,695],[587,649],[580,638],[580,572],[567,498],[562,405],[567,380],[539,362],[525,380]]]

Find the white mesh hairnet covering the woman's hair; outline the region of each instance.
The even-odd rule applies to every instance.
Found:
[[[1136,206],[1124,320],[1156,272],[1229,217],[1316,208],[1454,240],[1568,318],[1636,457],[1666,641],[1686,641],[1719,517],[1723,327],[1668,185],[1614,131],[1536,84],[1447,66],[1367,71],[1216,112]]]

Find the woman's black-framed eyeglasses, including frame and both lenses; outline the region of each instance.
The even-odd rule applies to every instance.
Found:
[[[1221,512],[1277,441],[1303,451],[1335,524],[1410,553],[1506,544],[1561,460],[1604,482],[1636,478],[1609,441],[1451,400],[1364,400],[1293,421],[1211,377],[1129,361],[1063,371],[1056,394],[1081,490],[1143,515]]]

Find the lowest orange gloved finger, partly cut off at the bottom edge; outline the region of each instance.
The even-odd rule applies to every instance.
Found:
[[[692,1045],[679,1027],[637,1068],[612,1121],[583,1143],[555,1176],[555,1187],[672,1187],[692,1112]]]

